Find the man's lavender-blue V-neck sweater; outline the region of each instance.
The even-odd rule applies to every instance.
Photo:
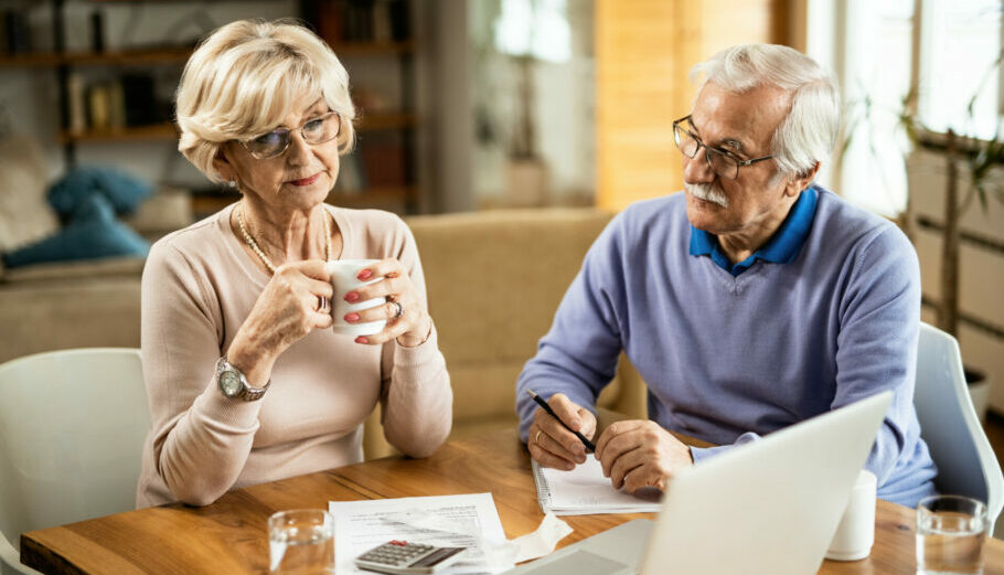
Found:
[[[805,194],[815,204],[808,230],[786,232]],[[810,188],[799,204],[778,233],[803,239],[790,260],[757,258],[731,273],[692,254],[699,249],[691,244],[682,193],[618,214],[520,375],[523,440],[535,408],[524,390],[564,393],[592,408],[624,350],[649,385],[650,418],[722,446],[693,449],[698,465],[735,444],[891,390],[866,468],[883,499],[912,507],[932,494],[937,471],[912,405],[916,253],[895,225],[829,191]]]

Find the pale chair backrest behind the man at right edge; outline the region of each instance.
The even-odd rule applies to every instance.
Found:
[[[973,408],[959,342],[920,324],[914,406],[920,436],[938,466],[936,487],[942,493],[968,496],[986,503],[990,532],[1004,507],[1004,476]]]

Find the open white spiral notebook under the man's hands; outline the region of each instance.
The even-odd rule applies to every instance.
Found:
[[[604,468],[591,455],[572,471],[541,467],[533,461],[537,501],[545,513],[555,515],[592,515],[598,513],[644,513],[662,508],[662,492],[647,488],[633,496],[613,489],[604,477]]]

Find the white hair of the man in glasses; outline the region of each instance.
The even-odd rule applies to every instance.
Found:
[[[775,130],[770,153],[779,174],[804,173],[833,150],[840,131],[840,92],[834,74],[811,57],[777,44],[743,44],[725,49],[691,70],[691,82],[704,75],[741,94],[769,84],[791,94],[788,115]]]

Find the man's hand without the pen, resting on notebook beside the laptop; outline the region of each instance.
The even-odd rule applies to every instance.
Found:
[[[613,488],[629,493],[643,487],[664,491],[671,477],[694,465],[687,446],[655,422],[641,419],[607,427],[596,443],[596,458]]]

